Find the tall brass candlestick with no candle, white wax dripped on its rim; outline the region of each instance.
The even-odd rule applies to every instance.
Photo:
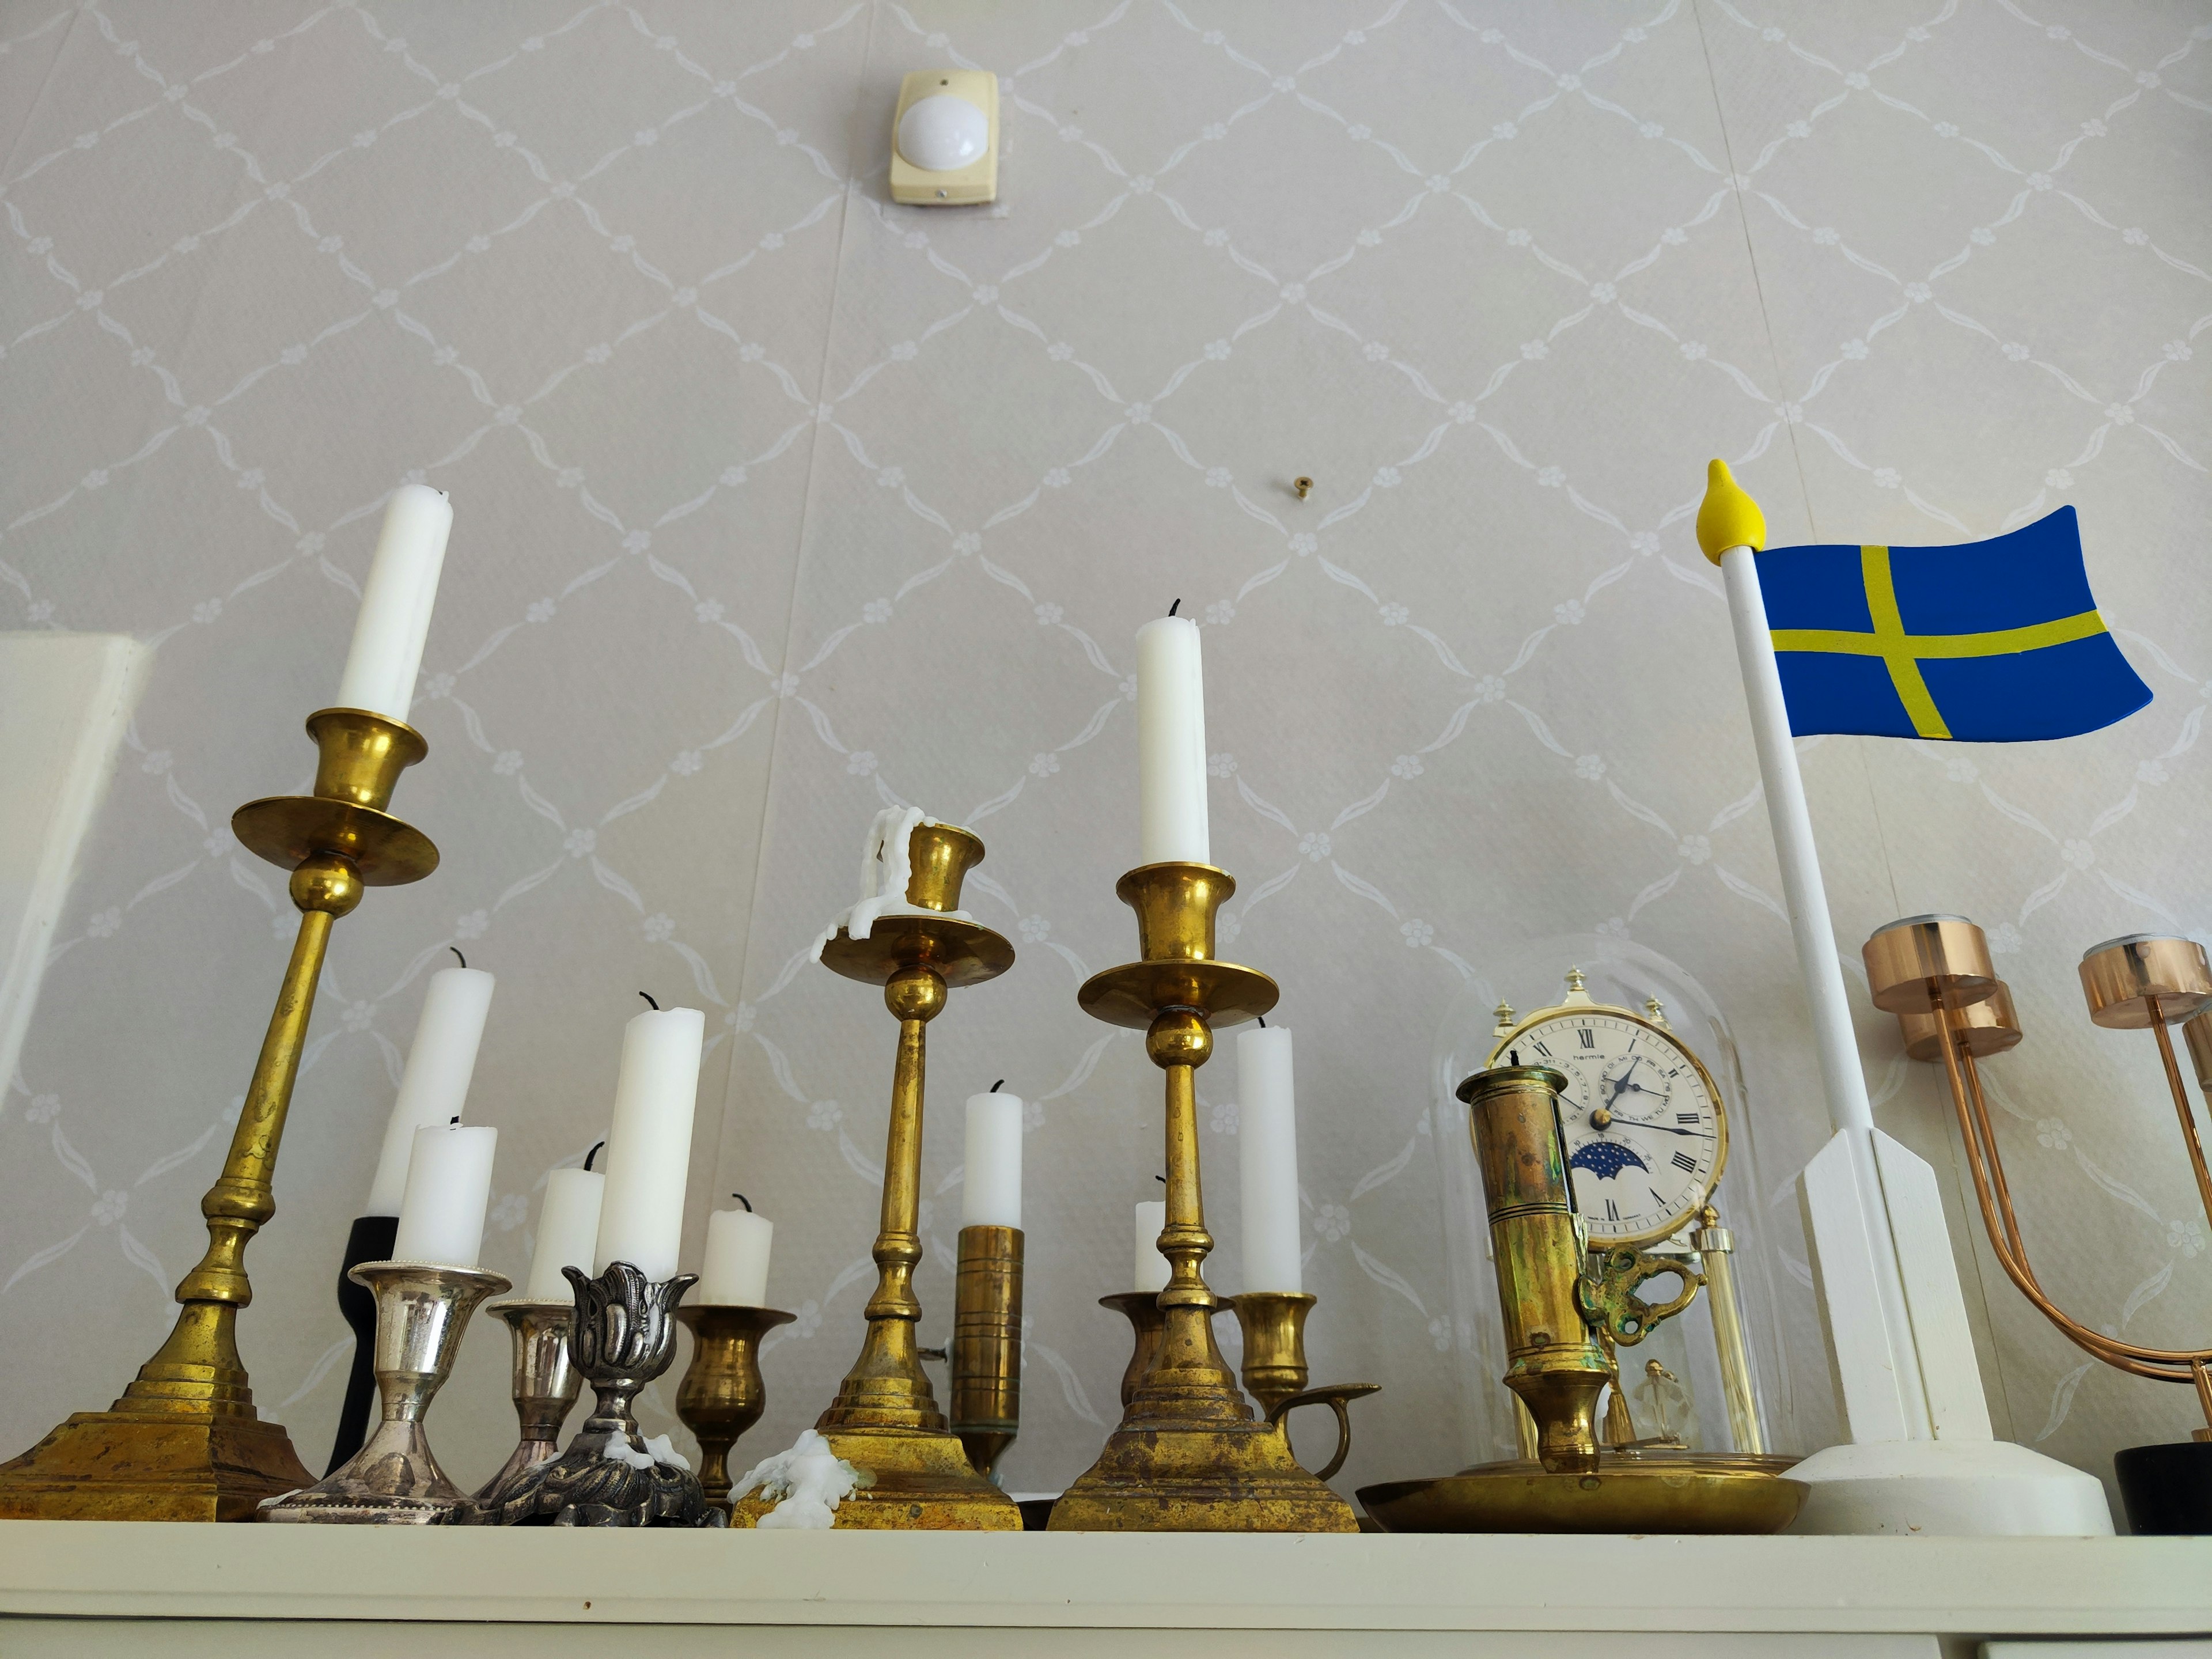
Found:
[[[867,938],[845,929],[823,945],[823,967],[847,980],[880,984],[898,1020],[898,1064],[891,1073],[891,1128],[883,1152],[883,1225],[876,1232],[876,1294],[867,1301],[860,1358],[814,1427],[836,1455],[865,1469],[876,1484],[836,1511],[838,1526],[1022,1528],[1022,1511],[975,1473],[967,1447],[947,1427],[916,1352],[922,1305],[914,1267],[922,1259],[922,1060],[929,1022],[945,998],[995,980],[1013,967],[1013,945],[1000,933],[947,911],[960,909],[960,883],[982,863],[982,841],[945,823],[916,825],[907,841],[907,905],[927,916],[878,916]],[[730,1520],[750,1526],[772,1509],[741,1498]]]

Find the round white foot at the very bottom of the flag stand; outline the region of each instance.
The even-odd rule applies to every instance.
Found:
[[[2110,1537],[2104,1482],[2011,1440],[1889,1440],[1816,1451],[1792,1533]]]

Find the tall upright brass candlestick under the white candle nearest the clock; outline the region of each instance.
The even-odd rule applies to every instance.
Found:
[[[1051,1531],[1352,1533],[1352,1504],[1298,1467],[1274,1422],[1252,1416],[1214,1347],[1223,1303],[1199,1263],[1214,1248],[1199,1183],[1194,1073],[1214,1048],[1214,1022],[1252,1020],[1276,1002],[1256,969],[1214,958],[1214,911],[1237,891],[1212,865],[1141,865],[1115,894],[1137,911],[1144,960],[1106,969],[1077,991],[1084,1013],[1146,1033],[1166,1073],[1170,1263],[1159,1292],[1159,1354],[1137,1383],[1099,1460],[1053,1506]]]

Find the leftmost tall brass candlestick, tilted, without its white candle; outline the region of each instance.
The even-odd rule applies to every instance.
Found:
[[[398,887],[438,867],[438,849],[385,805],[429,745],[411,726],[361,708],[307,717],[321,750],[314,794],[239,807],[230,827],[292,872],[299,938],[223,1172],[199,1201],[208,1252],[177,1285],[184,1312],[106,1411],[77,1411],[0,1464],[0,1520],[250,1520],[263,1498],[314,1482],[276,1422],[254,1413],[237,1318],[252,1301],[246,1245],[276,1212],[270,1177],[314,1013],[330,927],[363,887]]]

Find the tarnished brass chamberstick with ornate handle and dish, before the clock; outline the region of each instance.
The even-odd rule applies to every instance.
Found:
[[[1781,1531],[1805,1504],[1803,1482],[1736,1455],[1652,1460],[1599,1444],[1597,1400],[1617,1378],[1608,1345],[1641,1343],[1690,1305],[1703,1279],[1681,1256],[1588,1250],[1568,1183],[1566,1086],[1551,1066],[1506,1064],[1478,1071],[1458,1091],[1482,1166],[1511,1360],[1504,1383],[1535,1420],[1535,1460],[1363,1486],[1360,1502],[1394,1533]],[[1637,1296],[1668,1274],[1681,1283],[1672,1301]]]

